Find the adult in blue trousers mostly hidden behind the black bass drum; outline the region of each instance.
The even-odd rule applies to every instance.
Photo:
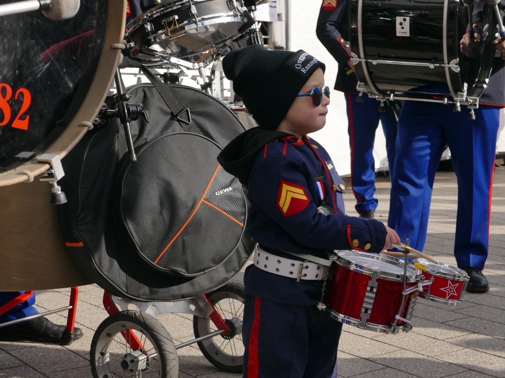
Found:
[[[356,211],[360,217],[374,219],[378,201],[375,196],[375,159],[373,156],[375,131],[382,123],[386,137],[389,172],[393,170],[396,118],[389,105],[379,111],[379,101],[363,95],[357,101],[358,78],[350,60],[349,0],[332,2],[324,0],[319,11],[316,34],[321,43],[338,62],[334,89],[343,92],[347,103],[347,119],[350,145],[352,193],[356,197]]]

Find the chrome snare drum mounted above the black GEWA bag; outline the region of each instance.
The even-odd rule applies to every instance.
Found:
[[[163,68],[170,57],[219,47],[252,24],[242,0],[170,0],[128,23],[125,38],[132,57]]]

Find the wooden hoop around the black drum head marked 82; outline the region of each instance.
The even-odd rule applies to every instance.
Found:
[[[124,0],[109,0],[108,10],[102,52],[98,59],[95,76],[79,110],[63,133],[45,151],[34,157],[27,164],[0,173],[0,186],[12,185],[28,180],[28,175],[21,172],[23,170],[31,172],[33,176],[37,176],[50,169],[51,166],[49,164],[37,162],[37,157],[42,154],[53,154],[63,159],[88,131],[87,127],[79,126],[79,123],[84,121],[93,122],[95,119],[109,92],[116,72],[115,68],[118,67],[121,57],[120,48],[115,48],[113,51],[110,50],[113,44],[123,44],[126,2]],[[118,13],[122,16],[118,17]]]

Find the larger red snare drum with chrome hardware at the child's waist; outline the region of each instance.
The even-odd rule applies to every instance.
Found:
[[[333,319],[383,333],[412,329],[410,319],[418,283],[424,281],[420,269],[407,265],[403,295],[403,262],[399,259],[342,250],[330,256],[330,260],[336,264],[329,274],[323,301]]]

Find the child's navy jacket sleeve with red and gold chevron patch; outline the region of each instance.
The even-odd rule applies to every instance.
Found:
[[[314,178],[321,173],[314,169],[322,167],[321,163],[311,166],[291,146],[285,154],[280,143],[267,146],[269,152],[260,152],[255,160],[247,194],[251,203],[265,213],[263,221],[258,222],[264,228],[250,229],[251,235],[260,244],[299,253],[298,249],[290,248],[298,243],[310,248],[311,254],[315,254],[314,249],[321,250],[321,254],[334,249],[381,251],[386,235],[382,223],[349,217],[344,213],[318,213],[319,199]],[[330,192],[328,188],[334,185],[333,182],[332,178],[326,192]],[[328,201],[325,200],[325,203],[333,207],[332,196],[334,194],[327,193]],[[266,223],[268,220],[272,223]]]

